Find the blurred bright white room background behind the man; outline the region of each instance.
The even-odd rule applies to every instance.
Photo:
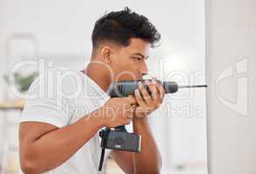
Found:
[[[91,32],[106,11],[125,6],[148,17],[162,35],[148,68],[160,80],[205,84],[205,1],[0,0],[0,173],[18,169],[18,120],[37,66],[11,72],[24,60],[82,70],[91,57]],[[207,173],[205,90],[167,95],[150,123],[163,157],[162,173]],[[111,158],[107,173],[122,173]]]

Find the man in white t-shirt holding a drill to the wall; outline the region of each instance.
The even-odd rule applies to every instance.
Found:
[[[133,131],[142,136],[141,152],[108,153],[127,174],[159,173],[161,157],[147,116],[162,103],[164,88],[153,81],[146,83],[152,95],[142,84],[138,84],[134,97],[110,98],[105,93],[112,82],[142,79],[147,73],[148,50],[160,39],[158,31],[146,17],[125,8],[101,17],[91,39],[91,62],[85,70],[77,71],[77,79],[83,78],[84,83],[65,78],[60,83],[65,92],[59,93],[59,88],[54,90],[59,85],[57,77],[48,85],[52,97],[26,103],[19,127],[20,173],[98,173],[98,131],[131,121]],[[37,79],[29,94],[38,93],[40,85]],[[78,95],[64,95],[77,88]],[[67,105],[72,107],[67,109]]]

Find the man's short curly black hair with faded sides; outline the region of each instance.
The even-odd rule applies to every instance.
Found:
[[[145,16],[125,7],[125,10],[111,11],[100,17],[94,25],[91,41],[93,48],[97,48],[104,42],[128,46],[131,38],[141,38],[154,47],[160,37],[158,30]]]

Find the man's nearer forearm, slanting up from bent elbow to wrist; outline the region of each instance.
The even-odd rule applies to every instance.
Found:
[[[93,113],[100,114],[97,111]],[[41,173],[63,164],[98,132],[103,126],[100,120],[100,116],[89,114],[74,124],[26,142],[22,157],[30,165],[27,172]]]

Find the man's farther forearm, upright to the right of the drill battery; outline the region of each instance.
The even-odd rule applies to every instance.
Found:
[[[133,131],[142,136],[141,152],[134,153],[134,167],[137,173],[159,173],[162,164],[161,156],[152,136],[147,117],[134,118]]]

